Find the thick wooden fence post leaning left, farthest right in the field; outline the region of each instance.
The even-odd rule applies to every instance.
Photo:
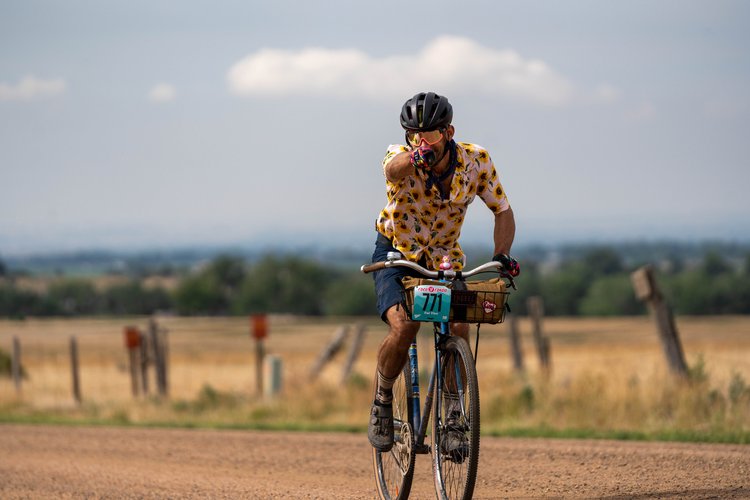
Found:
[[[656,283],[653,267],[647,265],[635,270],[631,273],[630,280],[635,296],[648,305],[651,316],[656,322],[664,356],[667,358],[670,370],[679,377],[687,378],[685,353],[674,323],[674,315]]]

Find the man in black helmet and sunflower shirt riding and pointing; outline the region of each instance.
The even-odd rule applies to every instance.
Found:
[[[509,256],[515,219],[495,166],[481,146],[453,140],[453,107],[434,92],[416,94],[401,109],[406,145],[391,145],[383,159],[387,204],[376,221],[373,262],[388,252],[437,270],[441,264],[461,270],[465,256],[458,244],[466,209],[479,196],[495,215],[494,260],[513,276],[520,267]],[[393,446],[392,387],[403,369],[419,323],[408,320],[401,278],[412,274],[392,267],[374,274],[378,312],[389,326],[378,351],[377,389],[370,411],[368,438],[374,448]],[[456,323],[451,332],[468,339],[469,325]],[[463,444],[463,434],[449,447]],[[441,445],[442,446],[442,445]],[[448,450],[452,451],[452,450]]]

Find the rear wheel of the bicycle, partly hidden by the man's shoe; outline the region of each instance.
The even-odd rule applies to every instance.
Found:
[[[375,378],[377,390],[377,373]],[[414,424],[411,403],[411,374],[404,367],[393,385],[393,448],[387,452],[372,449],[372,463],[378,495],[383,500],[409,498],[414,477]]]

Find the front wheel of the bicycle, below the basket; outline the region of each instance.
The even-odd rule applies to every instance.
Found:
[[[479,385],[474,357],[469,344],[461,337],[448,338],[440,349],[441,379],[435,384],[432,402],[433,476],[437,497],[443,500],[470,499],[474,494],[479,464]],[[464,386],[451,389],[449,371],[456,373],[456,361],[463,369],[460,376]],[[453,396],[450,397],[450,393]],[[458,408],[458,418],[448,414]],[[454,417],[452,415],[452,417]],[[454,447],[456,432],[463,435],[461,445]],[[448,438],[449,433],[454,433]],[[464,439],[466,441],[464,441]],[[450,449],[449,449],[450,448]]]

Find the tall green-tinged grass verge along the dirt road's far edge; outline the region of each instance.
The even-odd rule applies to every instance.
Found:
[[[750,386],[734,374],[717,386],[699,358],[690,379],[612,381],[579,374],[564,383],[507,376],[482,392],[487,436],[750,444]],[[204,385],[192,399],[143,398],[39,409],[0,405],[0,423],[269,431],[366,431],[371,392],[361,375],[263,399]]]

